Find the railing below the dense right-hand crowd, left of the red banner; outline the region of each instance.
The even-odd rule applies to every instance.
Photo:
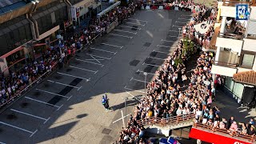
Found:
[[[174,116],[171,118],[145,118],[138,120],[138,125],[141,126],[171,126],[171,125],[178,125],[182,122],[191,122],[195,118],[194,114],[187,114],[187,115],[181,115],[181,116]]]

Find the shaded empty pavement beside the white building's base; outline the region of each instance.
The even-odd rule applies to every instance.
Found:
[[[221,118],[226,118],[228,121],[231,116],[234,116],[234,119],[237,122],[249,122],[250,118],[256,120],[256,111],[255,109],[246,110],[242,108],[234,98],[226,95],[222,90],[216,92],[216,101],[212,106],[218,106],[221,110]]]

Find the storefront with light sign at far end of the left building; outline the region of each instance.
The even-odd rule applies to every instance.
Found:
[[[82,1],[70,7],[71,17],[75,26],[86,26],[90,18],[96,17],[101,11],[101,2]]]

